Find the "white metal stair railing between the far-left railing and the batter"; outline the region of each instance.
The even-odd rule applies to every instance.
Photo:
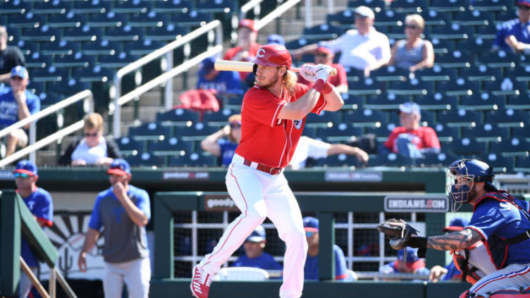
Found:
[[[121,132],[120,132],[121,105],[125,104],[130,99],[133,99],[134,97],[146,92],[147,90],[152,89],[153,87],[156,87],[156,85],[159,85],[164,82],[166,83],[166,89],[165,89],[165,94],[164,94],[164,107],[166,109],[171,108],[171,106],[173,105],[173,81],[171,80],[171,78],[174,77],[175,75],[178,75],[179,73],[182,73],[183,71],[194,66],[195,64],[199,63],[200,61],[197,61],[197,59],[195,59],[198,56],[201,56],[203,59],[208,57],[202,54],[198,55],[195,58],[192,58],[189,61],[186,61],[185,63],[180,65],[180,66],[186,65],[187,67],[179,68],[180,71],[175,72],[173,71],[176,69],[176,68],[173,68],[173,50],[178,48],[179,46],[183,46],[184,44],[187,44],[188,42],[192,41],[192,39],[199,37],[199,35],[203,35],[204,33],[210,32],[211,30],[214,30],[214,29],[216,30],[216,46],[214,46],[214,48],[217,48],[218,46],[220,46],[221,47],[221,49],[219,50],[220,52],[222,50],[222,44],[223,44],[223,28],[219,20],[213,20],[207,25],[204,25],[198,28],[197,30],[194,30],[183,37],[179,37],[174,42],[166,44],[166,46],[162,46],[160,49],[153,51],[151,54],[148,54],[147,56],[144,56],[138,59],[137,61],[130,63],[128,66],[125,66],[124,68],[121,68],[120,70],[118,70],[116,75],[114,75],[114,88],[116,90],[116,95],[114,96],[113,106],[111,107],[111,112],[113,113],[112,132],[115,138],[121,136]],[[159,75],[153,80],[150,80],[146,84],[137,88],[137,89],[144,90],[143,92],[136,92],[137,89],[135,89],[132,92],[129,92],[128,94],[122,97],[121,96],[121,80],[123,79],[123,77],[127,75],[128,73],[131,73],[132,71],[137,70],[138,68],[144,66],[145,64],[163,55],[166,55],[168,69],[169,68],[172,68],[172,69],[168,70],[163,75]],[[195,64],[188,63],[190,61],[194,61]],[[173,72],[173,75],[171,76],[166,75],[167,73],[170,73],[170,72]],[[164,77],[166,81],[161,80],[160,79],[161,77]],[[154,81],[156,81],[156,83],[153,83]],[[145,89],[146,85],[149,85],[152,87],[149,87],[149,89]],[[131,96],[130,94],[133,94],[132,97],[130,97]],[[125,97],[127,98],[126,100],[124,99]]]

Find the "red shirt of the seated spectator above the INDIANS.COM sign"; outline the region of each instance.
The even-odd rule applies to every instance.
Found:
[[[420,126],[417,130],[407,130],[402,126],[394,128],[392,133],[386,139],[385,147],[398,153],[398,136],[401,134],[412,135],[412,144],[415,144],[418,149],[423,148],[440,148],[440,141],[438,136],[432,128],[426,126]]]

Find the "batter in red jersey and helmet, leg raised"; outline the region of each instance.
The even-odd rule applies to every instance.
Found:
[[[208,297],[211,276],[266,217],[287,247],[280,297],[302,296],[307,240],[300,207],[283,168],[292,158],[307,114],[337,111],[344,102],[335,87],[326,83],[330,66],[302,66],[300,73],[314,85],[309,89],[297,84],[285,46],[261,46],[252,62],[255,86],[242,102],[241,142],[226,174],[228,193],[241,215],[228,225],[213,252],[193,268],[190,287],[197,298]]]

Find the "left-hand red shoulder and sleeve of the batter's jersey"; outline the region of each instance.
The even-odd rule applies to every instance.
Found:
[[[251,118],[264,125],[274,127],[281,108],[285,106],[285,101],[278,101],[272,94],[263,92],[257,87],[252,87],[243,99],[245,113]]]

